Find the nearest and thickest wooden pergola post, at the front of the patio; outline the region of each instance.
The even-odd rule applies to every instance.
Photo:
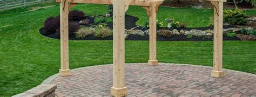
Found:
[[[113,86],[111,95],[125,96],[125,11],[130,1],[113,0]],[[127,4],[128,3],[128,4]]]

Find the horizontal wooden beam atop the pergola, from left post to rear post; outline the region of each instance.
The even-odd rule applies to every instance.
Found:
[[[55,0],[60,2],[60,0]],[[69,3],[89,3],[89,4],[112,4],[111,0],[67,0]],[[152,2],[131,0],[129,5],[151,6]]]

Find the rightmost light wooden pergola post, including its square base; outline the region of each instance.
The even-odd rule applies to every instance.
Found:
[[[214,5],[214,38],[212,77],[224,77],[223,67],[223,2],[211,2]]]

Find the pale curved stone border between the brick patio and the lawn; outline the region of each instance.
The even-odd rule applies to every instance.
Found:
[[[142,64],[147,64],[147,63],[127,63],[125,65],[142,65]],[[113,65],[113,64],[105,64],[105,65]],[[187,66],[197,66],[197,67],[207,67],[207,68],[213,68],[213,67],[210,67],[210,66],[203,66],[203,65],[192,65],[192,64],[172,64],[172,63],[159,63],[159,65],[187,65]],[[95,67],[95,66],[102,66],[102,65],[94,65],[94,66],[86,66],[86,67],[79,67],[79,68],[75,68],[72,71],[76,71],[76,70],[81,70],[83,68],[88,68],[88,67]],[[228,69],[225,69],[223,68],[224,71],[232,71],[232,72],[237,72],[237,73],[242,73],[242,74],[246,74],[246,75],[250,75],[250,76],[253,76],[253,77],[256,77],[256,74],[252,74],[252,73],[246,73],[246,72],[241,72],[241,71],[234,71],[234,70],[228,70]],[[209,71],[210,72],[210,71]],[[71,73],[72,74],[72,73]],[[45,85],[50,85],[51,84],[51,81],[54,80],[55,78],[58,77],[58,73],[57,74],[54,74],[52,75],[51,77],[45,79],[42,84],[45,84]]]

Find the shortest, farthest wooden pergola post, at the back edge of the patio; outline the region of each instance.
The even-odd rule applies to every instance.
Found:
[[[157,60],[157,3],[153,2],[149,8],[150,10],[150,40],[149,40],[149,65],[158,65]]]

